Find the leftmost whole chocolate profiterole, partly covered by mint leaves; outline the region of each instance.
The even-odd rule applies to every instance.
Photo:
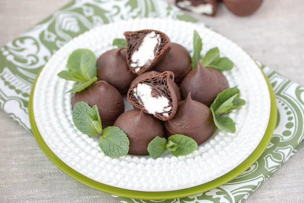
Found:
[[[98,81],[72,97],[72,107],[85,101],[90,107],[97,106],[102,127],[112,126],[125,111],[125,104],[119,91],[105,81]]]

